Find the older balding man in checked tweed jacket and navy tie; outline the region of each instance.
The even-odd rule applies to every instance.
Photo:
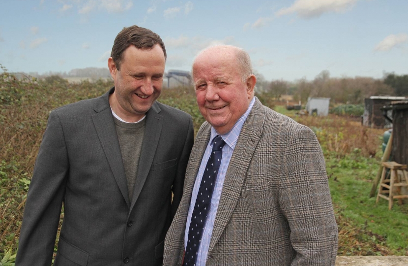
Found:
[[[319,142],[254,97],[251,68],[233,46],[207,48],[194,61],[206,122],[165,239],[164,266],[334,266],[338,232]]]

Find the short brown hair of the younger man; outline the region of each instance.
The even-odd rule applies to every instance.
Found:
[[[151,49],[154,45],[159,44],[164,53],[164,59],[167,59],[166,48],[164,42],[157,33],[138,27],[136,25],[123,28],[117,34],[114,46],[112,47],[111,57],[115,62],[117,70],[119,70],[120,63],[123,60],[123,52],[130,45],[134,45],[138,49]]]

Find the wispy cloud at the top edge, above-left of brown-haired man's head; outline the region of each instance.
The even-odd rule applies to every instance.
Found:
[[[132,6],[131,0],[87,0],[78,13],[88,14],[95,9],[105,10],[108,13],[120,13],[129,10]]]

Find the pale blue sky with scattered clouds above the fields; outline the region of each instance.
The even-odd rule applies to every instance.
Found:
[[[224,43],[267,80],[408,74],[408,0],[1,0],[0,64],[107,67],[117,33],[134,24],[162,37],[166,71]]]

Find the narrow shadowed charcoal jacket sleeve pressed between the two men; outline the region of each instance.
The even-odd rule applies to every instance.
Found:
[[[191,148],[194,143],[194,129],[193,129],[193,120],[189,119],[187,134],[185,135],[184,147],[178,161],[177,172],[175,176],[175,181],[173,183],[173,202],[172,202],[172,213],[171,219],[175,216],[177,211],[178,204],[180,203],[181,197],[183,196],[183,187],[184,187],[184,177],[186,173],[188,159],[190,157]]]

